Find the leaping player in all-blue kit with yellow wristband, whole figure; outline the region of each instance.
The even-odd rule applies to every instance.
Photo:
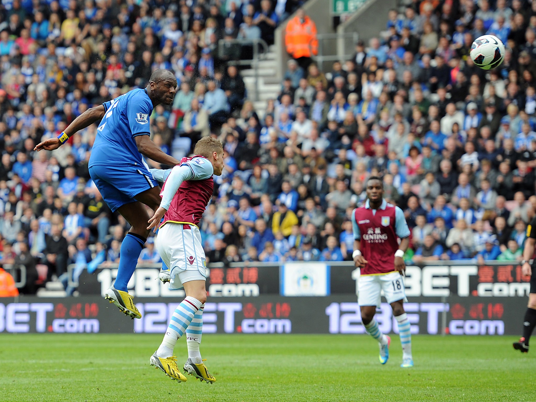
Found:
[[[160,187],[142,155],[164,165],[179,163],[149,138],[149,116],[155,106],[173,103],[176,87],[172,72],[155,70],[146,88],[87,109],[57,138],[49,138],[35,147],[35,151],[53,151],[77,131],[100,121],[91,150],[90,175],[110,209],[118,211],[132,226],[121,244],[117,278],[106,291],[106,299],[132,318],[142,317],[126,285],[149,234],[150,215],[143,204],[156,211],[161,202]]]

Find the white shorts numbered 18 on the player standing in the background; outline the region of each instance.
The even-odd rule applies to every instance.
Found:
[[[377,306],[381,304],[381,292],[389,304],[406,299],[404,280],[400,273],[390,272],[385,275],[366,275],[359,277],[359,306]]]

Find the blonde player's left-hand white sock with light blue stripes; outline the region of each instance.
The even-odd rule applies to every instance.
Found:
[[[159,358],[169,358],[169,356],[173,355],[173,348],[178,338],[182,337],[200,307],[201,302],[191,296],[186,296],[181,304],[177,306],[167,327],[164,339],[162,339],[162,344],[158,348],[157,356]]]

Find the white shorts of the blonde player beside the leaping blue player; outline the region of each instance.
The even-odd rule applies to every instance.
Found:
[[[196,226],[168,222],[158,230],[155,245],[169,267],[170,290],[182,289],[182,284],[192,280],[206,280],[205,251]]]

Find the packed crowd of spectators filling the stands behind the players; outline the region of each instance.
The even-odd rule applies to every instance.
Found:
[[[210,262],[351,260],[349,217],[371,175],[406,215],[407,260],[520,259],[536,210],[536,2],[411,2],[331,71],[291,59],[280,95],[257,113],[227,63],[250,49],[219,52],[218,40],[271,42],[300,4],[2,2],[0,252],[26,266],[23,292],[67,286],[68,264],[79,274],[116,263],[129,229],[88,174],[96,125],[51,153],[35,144],[157,68],[180,90],[170,110],[155,108],[154,142],[178,159],[200,137],[224,143],[200,228]],[[493,71],[468,58],[486,32],[507,46]],[[160,262],[152,238],[142,261]]]

